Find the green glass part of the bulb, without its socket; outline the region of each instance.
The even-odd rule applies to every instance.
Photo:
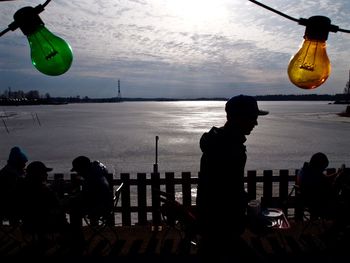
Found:
[[[65,73],[73,61],[70,45],[40,25],[27,35],[33,65],[42,73],[58,76]]]

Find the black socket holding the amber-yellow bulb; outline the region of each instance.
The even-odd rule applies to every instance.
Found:
[[[331,29],[331,20],[325,16],[312,16],[305,21],[304,38],[310,40],[326,41]]]

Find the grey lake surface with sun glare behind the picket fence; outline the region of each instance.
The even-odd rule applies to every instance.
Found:
[[[150,173],[159,136],[160,172],[199,170],[199,139],[225,122],[224,101],[122,102],[2,107],[0,164],[19,145],[30,161],[68,173],[71,161],[86,155],[110,172]],[[246,142],[247,170],[296,169],[316,151],[330,167],[350,166],[350,118],[337,116],[346,105],[328,102],[259,102],[270,111]],[[6,117],[7,116],[7,117]]]

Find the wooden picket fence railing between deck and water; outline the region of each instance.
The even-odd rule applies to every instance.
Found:
[[[279,206],[288,215],[289,209],[296,208],[294,196],[289,196],[289,193],[295,183],[297,171],[263,170],[262,174],[258,174],[255,170],[247,171],[245,184],[249,199],[261,198],[262,205]],[[327,169],[327,172],[335,172],[335,169]],[[63,174],[55,174],[51,182],[61,197],[69,195],[72,189],[76,189],[79,185],[76,174],[71,174],[69,180],[63,178]],[[148,176],[146,173],[138,173],[136,178],[131,178],[129,173],[121,173],[119,178],[113,178],[113,175],[109,174],[109,181],[113,187],[124,183],[120,203],[115,210],[116,224],[119,225],[160,223],[160,198],[157,191],[153,190],[166,191],[175,195],[183,205],[195,207],[192,191],[197,186],[198,175],[192,175],[190,172],[182,172],[178,177],[173,172],[166,172],[164,175],[152,173]]]

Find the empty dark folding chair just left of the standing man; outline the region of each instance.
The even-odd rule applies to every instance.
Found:
[[[181,241],[185,245],[197,245],[196,216],[193,211],[175,200],[175,196],[163,191],[158,191],[160,195],[161,216],[167,229],[162,238],[162,244],[171,229],[179,233]]]

